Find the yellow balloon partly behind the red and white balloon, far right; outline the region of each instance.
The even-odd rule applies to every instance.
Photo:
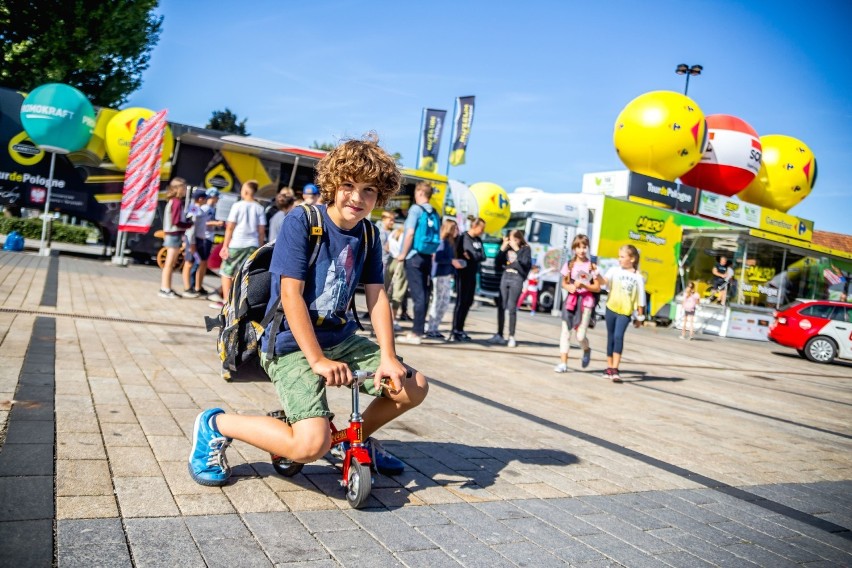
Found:
[[[760,137],[760,143],[760,172],[737,197],[786,213],[814,188],[816,156],[807,144],[792,136],[768,134]]]

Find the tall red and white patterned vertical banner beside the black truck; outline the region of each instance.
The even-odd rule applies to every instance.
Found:
[[[130,158],[124,172],[124,190],[118,230],[146,233],[154,221],[160,191],[160,165],[166,111],[161,110],[137,129],[130,143]]]

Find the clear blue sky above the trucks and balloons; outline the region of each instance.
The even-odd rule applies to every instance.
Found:
[[[160,42],[129,106],[203,126],[229,107],[262,138],[308,146],[375,130],[414,167],[424,107],[475,95],[467,163],[450,176],[550,192],[623,169],[615,118],[634,97],[683,91],[761,135],[814,151],[790,210],[852,233],[852,2],[272,2],[162,0]],[[449,121],[449,117],[448,117]],[[449,130],[441,148],[446,163]]]

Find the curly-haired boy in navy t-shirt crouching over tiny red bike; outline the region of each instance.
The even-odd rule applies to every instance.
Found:
[[[314,210],[294,209],[284,219],[269,268],[269,307],[280,298],[283,313],[262,336],[260,360],[287,421],[225,414],[219,408],[200,413],[189,457],[189,473],[197,483],[227,483],[225,449],[233,439],[300,463],[324,456],[331,447],[332,415],[326,388],[351,384],[352,370],[375,371],[375,379],[361,387],[376,396],[362,413],[365,438],[426,397],[426,377],[396,356],[379,239],[371,239],[366,249],[374,228],[365,219],[399,190],[400,180],[394,159],[375,137],[346,141],[320,160],[317,184],[328,204],[315,210],[320,231],[310,219]],[[315,250],[312,235],[319,237]],[[356,323],[346,313],[359,282],[378,345],[356,335]],[[376,440],[367,438],[365,445],[379,473],[402,473],[404,464]]]

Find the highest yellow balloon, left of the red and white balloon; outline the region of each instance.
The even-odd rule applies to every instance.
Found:
[[[627,103],[615,120],[612,138],[628,169],[674,181],[701,161],[707,124],[689,97],[652,91]]]

